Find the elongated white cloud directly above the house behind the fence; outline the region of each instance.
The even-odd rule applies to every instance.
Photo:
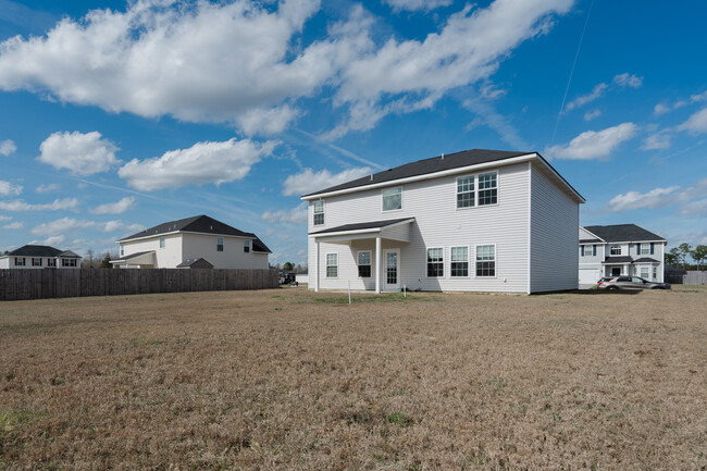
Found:
[[[220,185],[245,177],[251,165],[270,156],[277,144],[236,138],[197,142],[188,149],[170,150],[162,157],[144,161],[133,159],[117,174],[129,186],[145,191],[185,185]]]

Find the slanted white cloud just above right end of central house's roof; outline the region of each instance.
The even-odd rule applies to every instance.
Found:
[[[545,149],[556,159],[591,160],[608,157],[621,142],[632,139],[638,129],[633,123],[622,123],[603,131],[586,131],[568,145]]]

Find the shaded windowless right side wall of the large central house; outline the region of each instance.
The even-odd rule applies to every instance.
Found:
[[[530,292],[576,289],[580,272],[579,204],[539,170],[539,164],[533,162],[530,165]],[[500,253],[500,248],[498,251]]]

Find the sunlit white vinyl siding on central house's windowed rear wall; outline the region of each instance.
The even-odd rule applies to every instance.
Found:
[[[480,172],[489,173],[489,172]],[[382,249],[400,249],[400,286],[423,290],[466,290],[466,292],[528,292],[529,274],[529,187],[528,163],[498,168],[497,203],[457,210],[457,177],[448,175],[439,178],[413,182],[405,185],[402,209],[395,215],[382,219],[414,218],[411,225],[400,225],[396,232],[407,235],[408,243],[382,240]],[[574,204],[576,211],[576,203]],[[375,221],[381,218],[381,189],[362,189],[348,195],[327,197],[325,227]],[[575,218],[576,220],[576,218]],[[310,213],[309,233],[321,231],[314,226]],[[572,253],[576,258],[576,226]],[[319,270],[321,289],[373,289],[375,284],[375,236],[355,239],[350,246],[326,243],[320,239]],[[309,265],[315,267],[315,236],[309,237]],[[475,245],[496,245],[496,277],[475,278]],[[451,247],[470,246],[469,277],[449,275],[449,252]],[[427,277],[427,248],[445,248],[445,276]],[[357,252],[371,250],[372,276],[358,276]],[[325,253],[338,251],[338,278],[325,277]],[[383,263],[381,264],[383,267]],[[314,276],[310,271],[310,288],[314,288]],[[382,276],[383,273],[381,273]],[[576,273],[574,274],[576,280]],[[383,277],[381,277],[383,281]]]

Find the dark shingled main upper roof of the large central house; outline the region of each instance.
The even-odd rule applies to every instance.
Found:
[[[305,195],[305,197],[314,196],[322,193],[337,191],[339,189],[357,188],[359,186],[392,182],[394,179],[407,178],[410,176],[425,175],[427,173],[442,172],[445,170],[459,169],[461,166],[475,165],[479,163],[495,162],[497,160],[526,156],[529,153],[534,152],[486,149],[464,150],[461,152],[445,154],[444,159],[442,159],[442,156],[438,156],[431,159],[423,159],[418,160],[417,162],[406,163],[404,165],[384,170],[383,172],[374,173],[373,179],[371,179],[371,175],[367,175],[351,182],[346,182],[340,185],[335,185],[319,191],[310,193],[308,195]]]

